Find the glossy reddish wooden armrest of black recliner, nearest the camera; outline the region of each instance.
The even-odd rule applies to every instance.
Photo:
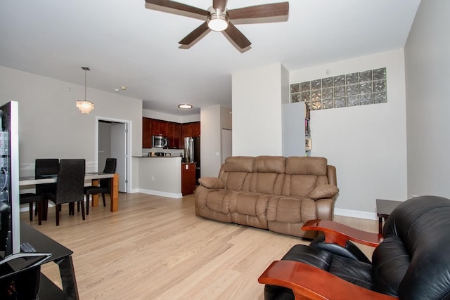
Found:
[[[364,289],[307,263],[274,261],[258,278],[264,285],[278,285],[292,289],[295,299],[380,299],[388,296]]]

